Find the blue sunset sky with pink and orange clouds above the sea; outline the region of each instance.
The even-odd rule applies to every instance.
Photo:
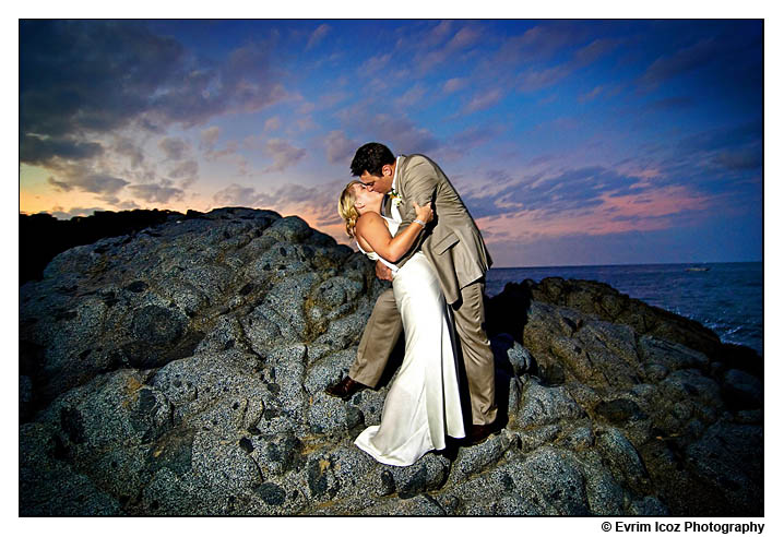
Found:
[[[761,20],[19,22],[19,208],[336,212],[435,159],[494,266],[760,261]]]

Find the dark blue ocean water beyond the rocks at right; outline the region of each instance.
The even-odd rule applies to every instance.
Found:
[[[631,298],[702,323],[725,343],[746,345],[763,355],[760,262],[490,268],[486,294],[498,295],[509,282],[539,282],[549,276],[604,282]]]

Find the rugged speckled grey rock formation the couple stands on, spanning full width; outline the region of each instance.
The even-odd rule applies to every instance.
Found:
[[[503,430],[378,464],[393,368],[323,389],[382,288],[269,211],[61,253],[20,288],[20,514],[762,514],[760,375],[524,285],[488,301]]]

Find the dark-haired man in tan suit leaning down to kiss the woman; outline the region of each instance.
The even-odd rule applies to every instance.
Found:
[[[432,202],[435,225],[428,226],[397,264],[421,250],[438,275],[454,314],[468,378],[472,428],[467,442],[477,444],[497,430],[495,367],[483,303],[485,273],[492,260],[482,235],[452,183],[428,157],[395,158],[385,145],[369,143],[357,150],[351,167],[352,175],[359,177],[368,190],[389,194],[384,212],[402,220],[399,232],[416,218],[414,202]],[[397,201],[393,203],[393,199]],[[381,262],[376,263],[376,275],[392,279],[390,268]],[[376,301],[348,375],[329,386],[326,393],[347,401],[359,390],[376,386],[402,329],[394,295],[387,289]]]

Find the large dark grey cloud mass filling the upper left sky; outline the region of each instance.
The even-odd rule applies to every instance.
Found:
[[[287,96],[273,56],[252,43],[210,63],[142,21],[21,21],[20,159],[93,158],[97,136],[132,123],[161,132],[257,111]]]

